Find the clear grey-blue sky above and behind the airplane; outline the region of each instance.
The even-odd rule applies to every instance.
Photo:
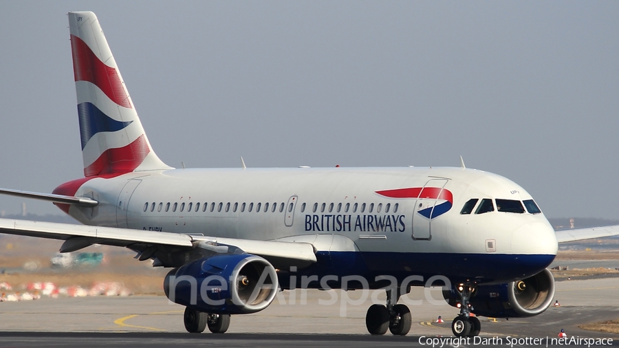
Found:
[[[83,175],[69,10],[171,166],[466,166],[619,219],[619,1],[0,0],[0,187]],[[0,197],[0,210],[58,213]]]

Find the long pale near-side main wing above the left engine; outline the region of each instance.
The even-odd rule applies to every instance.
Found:
[[[141,261],[156,256],[158,252],[186,253],[195,249],[220,252],[217,250],[222,249],[217,249],[217,247],[223,246],[224,250],[227,250],[226,246],[234,246],[248,254],[264,257],[279,267],[303,266],[316,262],[314,246],[310,243],[203,237],[202,235],[13,219],[0,219],[0,233],[63,240],[65,242],[60,248],[61,252],[80,250],[92,244],[124,246],[141,252],[138,255]]]

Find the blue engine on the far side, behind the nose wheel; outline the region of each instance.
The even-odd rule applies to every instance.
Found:
[[[443,290],[445,301],[457,307],[460,297],[454,288]],[[543,270],[521,281],[499,285],[480,285],[470,296],[473,313],[493,318],[536,316],[544,312],[554,298],[554,277]]]

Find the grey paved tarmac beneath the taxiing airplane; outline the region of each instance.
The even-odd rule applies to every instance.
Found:
[[[619,318],[619,279],[558,281],[555,298],[561,307],[552,306],[532,318],[495,322],[480,317],[481,337],[488,338],[488,344],[492,339],[502,338],[503,342],[495,341],[495,345],[528,347],[513,345],[513,341],[508,343],[506,339],[556,338],[565,329],[570,337],[613,338],[619,342],[617,334],[577,327]],[[413,326],[406,337],[367,333],[365,314],[373,302],[384,303],[384,293],[281,292],[262,312],[232,316],[226,334],[188,334],[182,319],[184,307],[162,296],[3,302],[0,303],[0,347],[425,347],[424,342],[428,341],[424,340],[428,337],[453,336],[450,323],[458,310],[444,303],[439,289],[415,287],[411,294],[400,299],[400,303],[409,305],[413,317]],[[438,316],[445,323],[435,323]],[[468,343],[459,346],[477,346],[473,341]]]

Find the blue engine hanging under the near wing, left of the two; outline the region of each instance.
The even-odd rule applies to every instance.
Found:
[[[171,270],[164,281],[170,301],[216,314],[249,314],[270,305],[278,291],[275,268],[251,254],[199,259]]]

